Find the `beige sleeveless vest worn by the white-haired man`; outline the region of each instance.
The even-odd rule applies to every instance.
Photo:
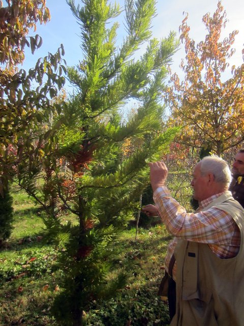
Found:
[[[179,239],[175,248],[176,314],[171,326],[244,325],[244,209],[230,192],[209,206],[233,217],[241,233],[236,257],[221,259],[208,244]]]

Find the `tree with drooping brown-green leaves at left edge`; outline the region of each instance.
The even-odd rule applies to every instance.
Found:
[[[28,72],[18,69],[24,60],[25,46],[34,53],[42,44],[39,35],[27,34],[36,30],[37,22],[50,19],[46,1],[8,0],[5,4],[6,7],[0,2],[0,196],[8,213],[1,215],[0,241],[9,236],[11,228],[9,181],[18,171],[21,153],[34,154],[33,144],[44,132],[40,125],[51,112],[50,98],[65,82],[59,74],[63,68],[57,70],[64,54],[62,46],[55,55],[49,53],[39,59]],[[38,87],[32,87],[32,83]]]

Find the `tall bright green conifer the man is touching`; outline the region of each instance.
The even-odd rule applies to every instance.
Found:
[[[160,159],[175,135],[176,129],[161,131],[161,92],[178,43],[173,33],[151,39],[155,3],[125,2],[127,35],[118,48],[118,23],[108,25],[121,14],[118,5],[69,1],[81,29],[82,58],[68,69],[74,95],[58,103],[62,110],[53,117],[55,128],[42,144],[35,171],[19,174],[19,184],[45,208],[49,231],[64,246],[63,291],[54,305],[61,324],[82,325],[89,303],[114,295],[123,284],[122,275],[112,282],[106,278],[113,239],[148,185],[147,161]],[[133,59],[145,42],[140,59]],[[131,99],[136,114],[123,122],[120,110]],[[125,154],[128,141],[140,146]],[[45,182],[37,189],[41,175]],[[62,225],[59,217],[67,211],[76,223]]]

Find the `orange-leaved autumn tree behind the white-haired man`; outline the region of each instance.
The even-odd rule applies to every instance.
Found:
[[[182,126],[178,142],[201,148],[202,155],[210,151],[221,155],[244,140],[244,64],[228,70],[238,31],[221,41],[227,23],[221,1],[212,17],[209,13],[203,16],[205,41],[196,45],[190,38],[187,19],[180,26],[186,50],[186,61],[182,60],[180,66],[185,79],[180,82],[178,75],[172,74],[171,86],[165,92],[171,109],[170,124]],[[227,80],[225,72],[231,74]]]

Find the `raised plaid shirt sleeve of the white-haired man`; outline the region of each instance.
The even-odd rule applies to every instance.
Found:
[[[188,241],[226,245],[233,235],[235,222],[232,216],[218,208],[188,213],[174,198],[167,187],[154,192],[154,201],[168,231]]]

